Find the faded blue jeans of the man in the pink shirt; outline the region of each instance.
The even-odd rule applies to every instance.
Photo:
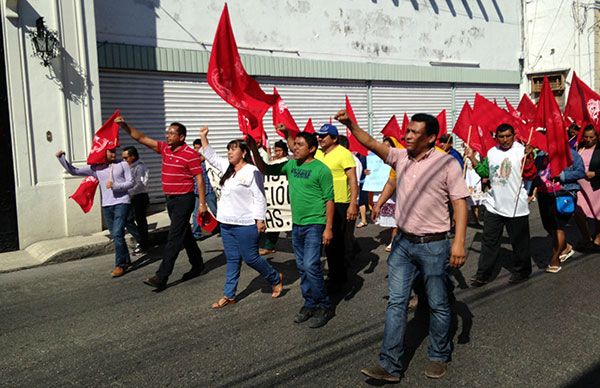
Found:
[[[452,316],[448,298],[449,257],[449,240],[414,244],[408,241],[402,232],[398,232],[394,238],[392,252],[388,257],[389,300],[379,353],[379,362],[388,373],[400,376],[404,372],[402,356],[408,300],[417,274],[423,278],[431,311],[427,355],[432,361],[450,360]]]

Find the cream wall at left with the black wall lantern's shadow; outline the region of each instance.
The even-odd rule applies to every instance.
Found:
[[[66,177],[55,157],[63,149],[75,164],[84,163],[94,129],[101,123],[93,4],[86,0],[1,4],[20,248],[98,231],[98,198],[87,215],[68,200],[81,178]],[[61,42],[59,57],[48,67],[33,55],[27,34],[40,16]]]

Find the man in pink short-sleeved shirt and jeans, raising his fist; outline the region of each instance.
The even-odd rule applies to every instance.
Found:
[[[439,124],[428,114],[415,114],[406,131],[406,149],[389,147],[372,138],[341,110],[336,119],[352,135],[396,170],[398,234],[388,258],[389,300],[379,363],[361,370],[377,380],[398,382],[406,366],[404,333],[410,291],[415,276],[425,283],[431,309],[429,364],[425,375],[441,378],[452,354],[449,266],[465,262],[467,202],[469,196],[458,163],[445,153],[435,152]],[[454,241],[448,237],[452,202],[456,228]]]

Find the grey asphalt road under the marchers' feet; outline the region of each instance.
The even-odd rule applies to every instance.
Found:
[[[544,265],[550,240],[535,214],[531,230],[534,260]],[[387,232],[369,225],[357,236],[352,286],[336,295],[336,316],[321,329],[292,322],[302,299],[286,240],[270,259],[285,275],[284,295],[272,300],[269,285],[244,266],[239,302],[220,311],[210,309],[225,277],[218,238],[200,242],[205,275],[179,282],[188,270],[182,253],[160,293],[142,283],[160,247],[119,279],[110,277],[112,255],[0,274],[0,386],[375,384],[359,370],[376,362],[382,337]],[[447,376],[423,375],[426,327],[411,320],[410,364],[399,386],[600,386],[600,255],[576,254],[558,274],[534,264],[534,276],[516,286],[501,269],[485,287],[461,288],[475,271],[479,241],[480,230],[469,228]]]

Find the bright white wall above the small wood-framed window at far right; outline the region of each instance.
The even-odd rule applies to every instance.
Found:
[[[523,0],[525,72],[575,70],[594,87],[593,0]],[[571,75],[568,76],[570,82]],[[523,87],[528,91],[525,79]]]

